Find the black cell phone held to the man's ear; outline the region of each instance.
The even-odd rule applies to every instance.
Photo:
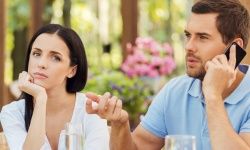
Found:
[[[233,42],[228,48],[226,48],[225,55],[227,57],[227,60],[229,60],[229,55],[230,55],[230,48],[232,45],[236,46],[236,64],[235,64],[235,69],[238,67],[242,59],[246,56],[246,51],[241,48],[236,42]]]

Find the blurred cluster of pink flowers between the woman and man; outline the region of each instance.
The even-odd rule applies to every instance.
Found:
[[[135,45],[127,44],[129,55],[121,70],[129,77],[168,75],[176,68],[173,49],[168,43],[159,44],[152,38],[138,37]]]

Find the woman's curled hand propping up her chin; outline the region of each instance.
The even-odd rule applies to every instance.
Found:
[[[32,95],[35,100],[38,99],[47,100],[47,94],[45,88],[35,84],[32,76],[26,71],[23,71],[19,74],[18,88],[21,91]]]

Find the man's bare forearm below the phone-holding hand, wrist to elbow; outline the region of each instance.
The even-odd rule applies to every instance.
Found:
[[[250,133],[238,135],[227,116],[223,100],[206,100],[208,128],[213,150],[248,150]]]

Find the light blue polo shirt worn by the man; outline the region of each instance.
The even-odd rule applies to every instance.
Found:
[[[249,70],[245,66],[245,77],[224,101],[231,124],[237,133],[250,132]],[[160,138],[170,134],[194,135],[197,150],[210,150],[205,105],[201,81],[187,75],[177,77],[161,89],[141,125]]]

